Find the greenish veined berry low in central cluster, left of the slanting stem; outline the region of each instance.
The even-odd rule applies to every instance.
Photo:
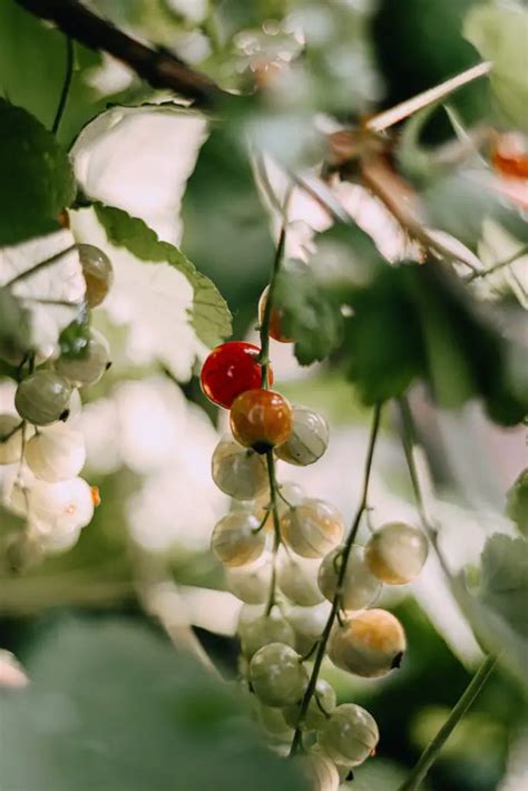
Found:
[[[270,643],[250,662],[250,680],[258,700],[266,706],[282,709],[302,699],[309,675],[290,645]]]

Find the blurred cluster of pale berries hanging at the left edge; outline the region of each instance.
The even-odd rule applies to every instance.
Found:
[[[101,250],[80,244],[78,251],[86,282],[81,311],[89,316],[108,293],[114,272]],[[91,328],[76,357],[40,359],[28,352],[18,362],[19,417],[0,414],[0,465],[12,466],[3,476],[1,505],[27,525],[7,548],[17,569],[43,553],[74,546],[99,505],[97,487],[79,477],[85,441],[71,423],[81,409],[79,388],[98,382],[111,364],[108,343]]]

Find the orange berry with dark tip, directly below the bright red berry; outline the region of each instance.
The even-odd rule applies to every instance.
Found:
[[[265,453],[290,437],[293,410],[280,393],[258,388],[235,399],[229,420],[233,436],[241,445]]]

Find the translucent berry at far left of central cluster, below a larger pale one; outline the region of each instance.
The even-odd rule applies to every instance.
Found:
[[[213,530],[211,548],[226,566],[245,566],[261,557],[266,544],[258,519],[252,514],[235,511],[223,517]]]

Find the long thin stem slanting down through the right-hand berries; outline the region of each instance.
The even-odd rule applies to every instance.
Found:
[[[330,633],[332,632],[332,627],[334,625],[335,618],[338,617],[338,613],[339,613],[339,608],[340,608],[343,582],[344,582],[344,576],[346,573],[346,564],[349,561],[350,553],[352,550],[352,546],[353,546],[353,544],[355,541],[355,537],[358,535],[358,530],[359,530],[360,523],[361,523],[361,517],[363,516],[363,512],[366,509],[370,478],[371,478],[371,472],[372,472],[372,461],[374,458],[374,448],[375,448],[375,442],[377,442],[378,433],[379,433],[379,429],[380,429],[381,409],[382,409],[382,404],[377,404],[374,408],[374,413],[373,413],[373,418],[372,418],[372,428],[371,428],[370,438],[369,438],[369,447],[366,450],[366,460],[365,460],[365,470],[364,470],[363,489],[362,489],[362,494],[361,494],[361,500],[360,500],[360,505],[358,506],[358,510],[355,512],[351,530],[349,533],[349,536],[348,536],[346,541],[343,547],[342,563],[340,566],[339,576],[338,576],[338,584],[335,587],[335,596],[332,602],[332,609],[330,611],[329,619],[326,621],[326,624],[323,629],[323,634],[321,635],[321,642],[319,644],[317,652],[315,654],[315,660],[313,663],[312,675],[310,676],[309,685],[306,687],[306,692],[304,693],[304,697],[301,703],[301,711],[299,714],[299,724],[297,724],[297,727],[295,729],[295,733],[293,734],[292,746],[290,750],[291,756],[295,755],[295,753],[297,752],[297,750],[301,746],[302,724],[303,724],[304,719],[306,716],[310,701],[312,700],[312,696],[315,692],[315,686],[316,686],[317,680],[319,680],[319,673],[321,671],[321,665],[323,663],[323,658],[326,653],[326,645],[327,645],[327,642],[330,638]]]

